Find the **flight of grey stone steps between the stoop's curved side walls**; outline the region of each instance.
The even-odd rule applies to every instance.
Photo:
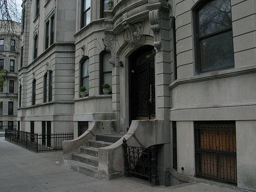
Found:
[[[88,141],[88,146],[80,147],[80,153],[72,154],[72,159],[68,160],[68,167],[91,177],[102,178],[102,175],[98,173],[99,148],[116,143],[124,135],[125,133],[96,135],[96,141]]]

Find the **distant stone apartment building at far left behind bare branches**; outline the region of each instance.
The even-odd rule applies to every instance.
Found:
[[[7,20],[0,22],[13,28],[0,29],[0,70],[5,69],[2,75],[3,86],[0,87],[0,101],[2,102],[0,104],[0,130],[4,130],[16,128],[20,23]]]

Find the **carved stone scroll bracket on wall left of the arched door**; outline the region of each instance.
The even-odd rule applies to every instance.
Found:
[[[109,60],[109,63],[111,63],[113,66],[116,64],[115,41],[115,35],[105,35],[105,38],[103,39],[106,51],[111,52],[111,59]]]

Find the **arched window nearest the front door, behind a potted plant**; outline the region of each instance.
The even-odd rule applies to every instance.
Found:
[[[102,84],[108,83],[112,87],[112,64],[109,63],[111,53],[105,52],[101,55],[100,93],[102,94]]]

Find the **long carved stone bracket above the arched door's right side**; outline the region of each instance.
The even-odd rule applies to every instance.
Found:
[[[149,21],[151,24],[151,29],[154,32],[154,47],[158,50],[161,48],[161,35],[160,35],[160,10],[154,9],[149,11]]]

